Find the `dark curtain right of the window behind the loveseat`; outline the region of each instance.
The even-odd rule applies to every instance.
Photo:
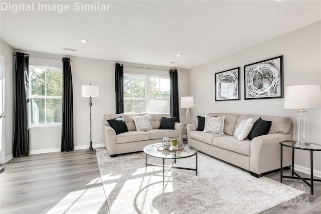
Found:
[[[177,122],[180,122],[179,83],[176,69],[170,70],[170,89],[170,113],[172,117],[177,117]]]

